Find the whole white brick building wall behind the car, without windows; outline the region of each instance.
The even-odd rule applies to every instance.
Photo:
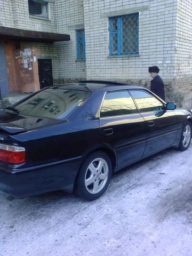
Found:
[[[47,0],[50,20],[29,16],[28,0],[0,0],[0,26],[69,34],[69,42],[21,42],[52,59],[54,83],[107,79],[149,87],[157,65],[166,100],[191,107],[191,0]],[[109,58],[109,22],[139,12],[139,56]],[[85,28],[86,61],[77,61],[76,29]]]

